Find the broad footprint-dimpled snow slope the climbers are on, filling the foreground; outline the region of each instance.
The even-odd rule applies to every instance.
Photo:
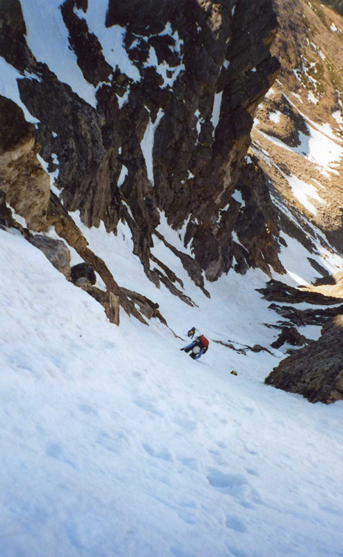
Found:
[[[147,279],[126,224],[115,237],[73,218],[120,285],[157,301],[182,338],[196,325],[209,352],[193,361],[186,338],[124,312],[115,327],[41,251],[0,230],[1,556],[338,557],[342,402],[265,386],[282,351],[213,342],[270,348],[277,332],[264,323],[279,316],[255,291],[266,276],[205,281],[207,299],[156,243],[191,308]],[[159,230],[186,251],[165,218]],[[286,240],[282,262],[312,280],[307,252]]]

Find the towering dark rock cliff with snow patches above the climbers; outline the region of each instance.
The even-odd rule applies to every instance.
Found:
[[[165,274],[154,269],[150,248],[154,235],[161,237],[160,211],[174,228],[188,221],[185,242],[193,258],[175,254],[205,294],[202,273],[213,281],[232,264],[237,272],[249,266],[282,272],[278,219],[262,172],[253,163],[241,171],[255,109],[279,70],[269,51],[278,27],[271,0],[109,0],[104,29],[125,27],[123,46],[136,80],[106,61],[102,37],[88,28],[88,1],[66,0],[59,9],[69,48],[96,88],[96,108],[35,59],[19,0],[8,6],[0,8],[0,55],[22,74],[20,97],[39,120],[35,129],[27,126],[28,149],[35,156],[40,148],[49,171],[56,169],[52,153],[59,162],[61,194],[46,195],[45,175],[40,220],[30,207],[11,202],[13,180],[3,174],[7,201],[35,230],[55,226],[136,316],[68,212],[79,210],[86,226],[104,221],[108,232],[127,221],[147,276],[186,303],[168,267]],[[244,207],[232,198],[237,181]]]

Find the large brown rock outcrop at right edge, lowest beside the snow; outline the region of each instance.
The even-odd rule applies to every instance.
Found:
[[[317,342],[283,360],[265,383],[310,402],[343,400],[343,316],[326,324]]]

